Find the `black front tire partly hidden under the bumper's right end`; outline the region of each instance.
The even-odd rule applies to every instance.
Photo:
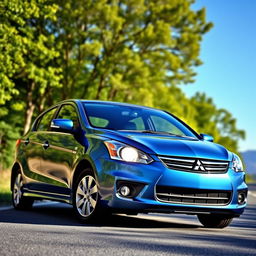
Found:
[[[231,221],[233,220],[230,216],[225,215],[198,215],[198,220],[201,224],[204,225],[205,228],[225,228],[227,227]]]

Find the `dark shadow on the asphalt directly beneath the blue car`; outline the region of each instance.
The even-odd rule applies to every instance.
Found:
[[[154,216],[141,218],[128,215],[108,215],[102,214],[102,217],[89,223],[83,224],[77,220],[73,214],[70,205],[62,203],[40,204],[34,206],[31,210],[20,211],[9,209],[1,211],[0,222],[5,223],[22,223],[38,225],[62,225],[62,226],[111,226],[123,228],[190,228],[201,227],[194,223],[177,223],[171,218],[154,219]]]

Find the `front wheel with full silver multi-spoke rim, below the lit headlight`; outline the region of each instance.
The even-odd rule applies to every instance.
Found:
[[[91,169],[83,170],[73,187],[73,208],[76,217],[88,223],[99,217],[100,196],[95,176]]]

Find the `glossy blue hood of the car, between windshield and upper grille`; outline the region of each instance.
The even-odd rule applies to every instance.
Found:
[[[137,147],[146,153],[231,161],[231,153],[223,146],[191,137],[137,132],[111,132],[108,137]]]

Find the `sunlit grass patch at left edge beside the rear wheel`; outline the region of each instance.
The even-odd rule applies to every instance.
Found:
[[[10,170],[0,171],[0,204],[11,203]]]

